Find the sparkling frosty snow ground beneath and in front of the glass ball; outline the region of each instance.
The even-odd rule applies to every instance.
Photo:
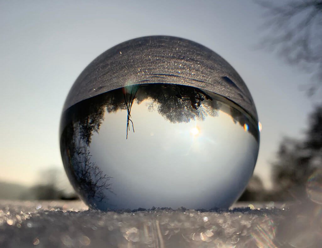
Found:
[[[0,204],[0,247],[320,247],[321,205],[101,212],[81,201]]]

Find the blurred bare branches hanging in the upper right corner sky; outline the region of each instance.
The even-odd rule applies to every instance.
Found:
[[[308,88],[312,95],[322,82],[322,1],[298,0],[273,4],[255,0],[266,10],[269,34],[262,47],[276,49],[291,65],[313,74],[314,83]]]

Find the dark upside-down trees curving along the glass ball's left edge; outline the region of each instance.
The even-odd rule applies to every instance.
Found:
[[[89,151],[91,136],[94,131],[98,132],[99,124],[102,122],[100,112],[101,110],[99,109],[99,113],[93,119],[86,117],[86,120],[71,122],[64,129],[61,139],[62,159],[64,160],[64,165],[68,166],[66,173],[74,189],[82,197],[88,199],[91,205],[108,200],[106,190],[112,192],[112,184],[109,183],[111,177],[103,173],[100,166],[91,161]],[[92,128],[88,128],[90,126]]]

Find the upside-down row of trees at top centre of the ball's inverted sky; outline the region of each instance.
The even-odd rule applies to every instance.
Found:
[[[194,87],[175,84],[142,84],[140,87],[134,85],[116,89],[108,98],[108,112],[116,112],[119,109],[129,112],[134,101],[140,104],[147,100],[150,111],[156,110],[171,123],[189,122],[195,118],[204,120],[207,115],[216,116],[219,109],[217,102],[207,93]],[[127,119],[130,117],[128,113]],[[127,122],[133,124],[131,120]]]

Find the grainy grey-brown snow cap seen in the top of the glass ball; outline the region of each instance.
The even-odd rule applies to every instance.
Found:
[[[237,103],[258,120],[251,93],[226,60],[196,42],[171,36],[128,40],[99,55],[76,79],[63,110],[110,90],[152,83],[212,91]]]

